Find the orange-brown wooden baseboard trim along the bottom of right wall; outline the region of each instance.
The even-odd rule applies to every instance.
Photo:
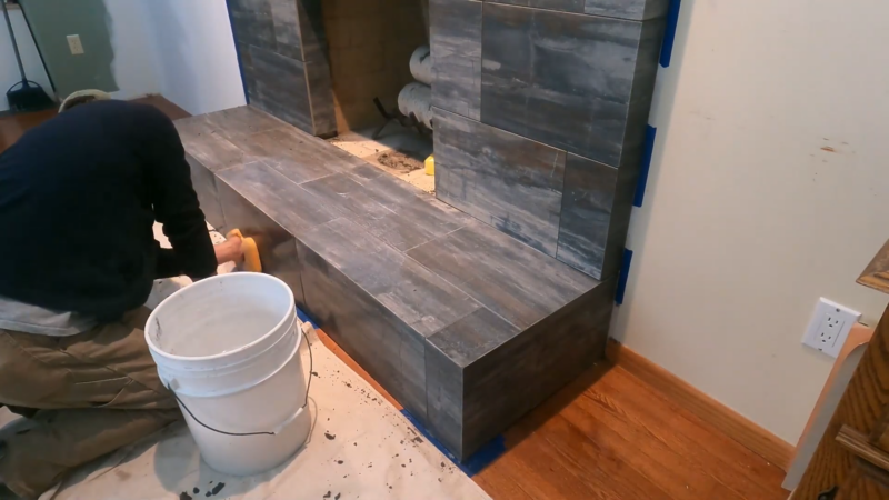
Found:
[[[789,442],[613,339],[608,340],[606,357],[781,470],[790,467],[795,448]]]

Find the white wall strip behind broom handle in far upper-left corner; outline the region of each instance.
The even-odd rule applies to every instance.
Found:
[[[17,7],[10,8],[9,17],[12,21],[12,31],[16,33],[16,41],[19,43],[24,73],[29,80],[36,81],[52,96],[49,77],[47,77],[43,64],[40,62],[40,54],[37,51],[37,47],[34,47],[31,33],[28,31],[28,24],[24,22],[21,10]],[[2,12],[0,12],[0,18],[2,18]],[[7,22],[0,19],[0,111],[9,109],[6,92],[18,81],[21,81],[21,76],[19,74],[19,66],[16,63],[16,53],[12,50],[12,43],[9,41]]]

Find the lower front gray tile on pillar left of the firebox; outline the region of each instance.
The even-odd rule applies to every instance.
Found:
[[[256,88],[250,104],[309,133],[313,132],[303,63],[250,46]]]

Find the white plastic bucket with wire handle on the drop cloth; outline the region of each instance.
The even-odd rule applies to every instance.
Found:
[[[158,374],[211,468],[263,472],[308,439],[299,356],[304,336],[297,323],[290,288],[252,272],[186,287],[148,318],[146,341]]]

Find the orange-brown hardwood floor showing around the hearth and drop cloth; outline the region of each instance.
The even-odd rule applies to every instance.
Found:
[[[188,116],[160,97],[140,101],[173,119]],[[53,114],[0,118],[0,151]],[[376,383],[323,333],[321,340]],[[696,417],[681,401],[607,362],[505,436],[507,452],[473,478],[495,500],[788,497],[780,487],[785,473],[777,466]]]

